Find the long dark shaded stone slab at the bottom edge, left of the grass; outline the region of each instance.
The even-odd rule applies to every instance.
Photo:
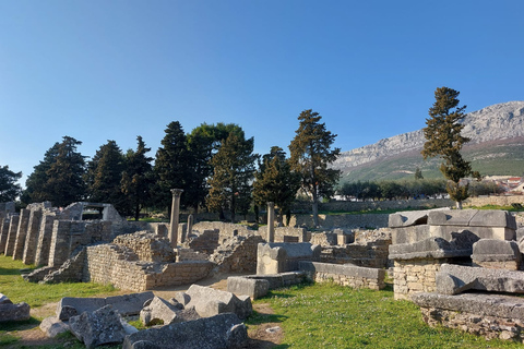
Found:
[[[126,337],[122,349],[239,349],[247,340],[246,325],[227,313],[140,330]]]

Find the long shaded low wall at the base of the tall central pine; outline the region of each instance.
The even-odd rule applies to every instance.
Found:
[[[319,224],[322,228],[384,228],[388,227],[388,214],[361,214],[361,215],[319,215]],[[294,215],[289,221],[291,227],[313,228],[311,215]]]

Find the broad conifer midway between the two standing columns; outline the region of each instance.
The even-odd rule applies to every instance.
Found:
[[[222,217],[228,209],[231,222],[235,222],[237,212],[247,214],[251,203],[251,181],[257,159],[253,144],[252,137],[243,140],[230,133],[211,159],[214,172],[207,180],[210,194],[206,204],[211,210],[219,212]]]

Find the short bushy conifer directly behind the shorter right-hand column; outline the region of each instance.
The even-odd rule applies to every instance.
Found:
[[[255,173],[254,203],[261,207],[267,202],[275,203],[278,207],[278,222],[282,224],[283,215],[284,213],[289,214],[299,188],[300,178],[298,173],[291,171],[284,151],[278,146],[273,146],[270,154],[262,157],[259,171]]]

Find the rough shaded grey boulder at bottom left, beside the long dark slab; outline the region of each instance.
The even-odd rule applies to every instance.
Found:
[[[111,305],[106,305],[94,312],[83,312],[69,320],[71,333],[84,342],[86,348],[120,344],[128,335],[123,320]]]

